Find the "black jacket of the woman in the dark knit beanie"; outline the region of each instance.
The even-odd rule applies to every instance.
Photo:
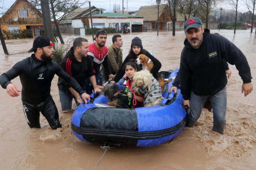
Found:
[[[160,63],[160,61],[158,59],[156,59],[153,55],[151,55],[146,49],[140,50],[140,53],[138,55],[140,55],[140,54],[144,54],[144,55],[148,56],[148,58],[150,58],[151,61],[154,63],[154,66],[151,69],[150,73],[152,73],[153,75],[158,73],[158,71],[162,67],[162,64]],[[114,78],[115,82],[118,82],[124,76],[124,73],[125,73],[124,65],[128,62],[129,59],[136,60],[137,57],[135,55],[134,56],[127,55],[127,57],[124,59],[124,62],[121,65],[120,69],[116,73],[116,76]]]

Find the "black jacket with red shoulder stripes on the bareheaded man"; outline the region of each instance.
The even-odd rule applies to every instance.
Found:
[[[74,77],[79,85],[84,89],[85,88],[85,79],[86,77],[91,77],[95,75],[95,71],[93,69],[93,63],[89,56],[82,57],[82,62],[78,61],[74,56],[74,48],[71,49],[66,53],[65,57],[61,61],[61,67]],[[63,91],[69,91],[68,88],[70,86],[63,80],[58,79],[58,88]]]

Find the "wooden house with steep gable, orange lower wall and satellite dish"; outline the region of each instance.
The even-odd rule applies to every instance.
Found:
[[[5,31],[30,29],[37,37],[43,26],[42,13],[28,0],[16,0],[0,18],[0,25]]]

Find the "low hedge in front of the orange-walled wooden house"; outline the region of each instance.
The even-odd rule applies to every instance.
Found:
[[[4,39],[19,39],[19,38],[33,38],[32,30],[12,30],[6,31],[2,30],[4,34]]]

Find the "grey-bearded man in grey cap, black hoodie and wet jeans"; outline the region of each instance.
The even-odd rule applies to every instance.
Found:
[[[208,98],[213,110],[212,130],[223,134],[227,107],[224,62],[236,65],[243,80],[242,93],[245,97],[253,89],[250,67],[240,49],[223,36],[210,34],[199,18],[188,18],[184,29],[186,39],[180,59],[180,89],[184,105],[190,107],[186,126],[195,125]]]

